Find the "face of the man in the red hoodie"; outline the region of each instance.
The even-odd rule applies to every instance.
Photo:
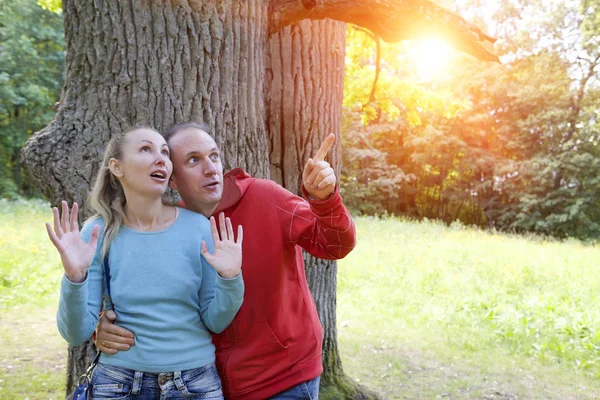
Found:
[[[210,217],[223,194],[223,164],[217,144],[197,128],[186,128],[169,140],[176,189],[186,206]]]

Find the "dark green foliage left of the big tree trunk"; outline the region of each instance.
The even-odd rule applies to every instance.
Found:
[[[35,0],[0,5],[0,197],[25,188],[20,150],[54,116],[63,85],[60,15]]]

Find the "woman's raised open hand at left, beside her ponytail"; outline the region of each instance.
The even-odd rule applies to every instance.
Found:
[[[54,213],[54,229],[46,222],[46,230],[50,240],[60,253],[60,259],[65,268],[65,275],[73,283],[81,283],[85,280],[87,270],[94,260],[100,226],[92,229],[89,242],[85,242],[79,233],[77,212],[79,206],[73,203],[73,209],[69,215],[69,206],[66,201],[62,202],[62,215],[59,215],[56,207],[52,208]]]

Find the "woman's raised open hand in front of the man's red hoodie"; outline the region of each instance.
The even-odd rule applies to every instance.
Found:
[[[219,227],[221,236],[217,230],[215,217],[210,217],[210,229],[215,242],[215,252],[210,254],[208,246],[202,241],[202,255],[208,261],[211,267],[225,279],[235,278],[242,270],[242,240],[244,231],[242,226],[238,226],[237,241],[233,236],[233,226],[231,220],[225,218],[225,214],[219,214]]]

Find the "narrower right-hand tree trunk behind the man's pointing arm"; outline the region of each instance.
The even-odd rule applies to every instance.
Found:
[[[325,137],[339,178],[346,24],[303,21],[271,36],[265,93],[271,179],[301,194],[302,169]],[[336,329],[337,263],[304,253],[306,277],[323,324],[321,391],[328,398],[376,398],[342,369]]]

